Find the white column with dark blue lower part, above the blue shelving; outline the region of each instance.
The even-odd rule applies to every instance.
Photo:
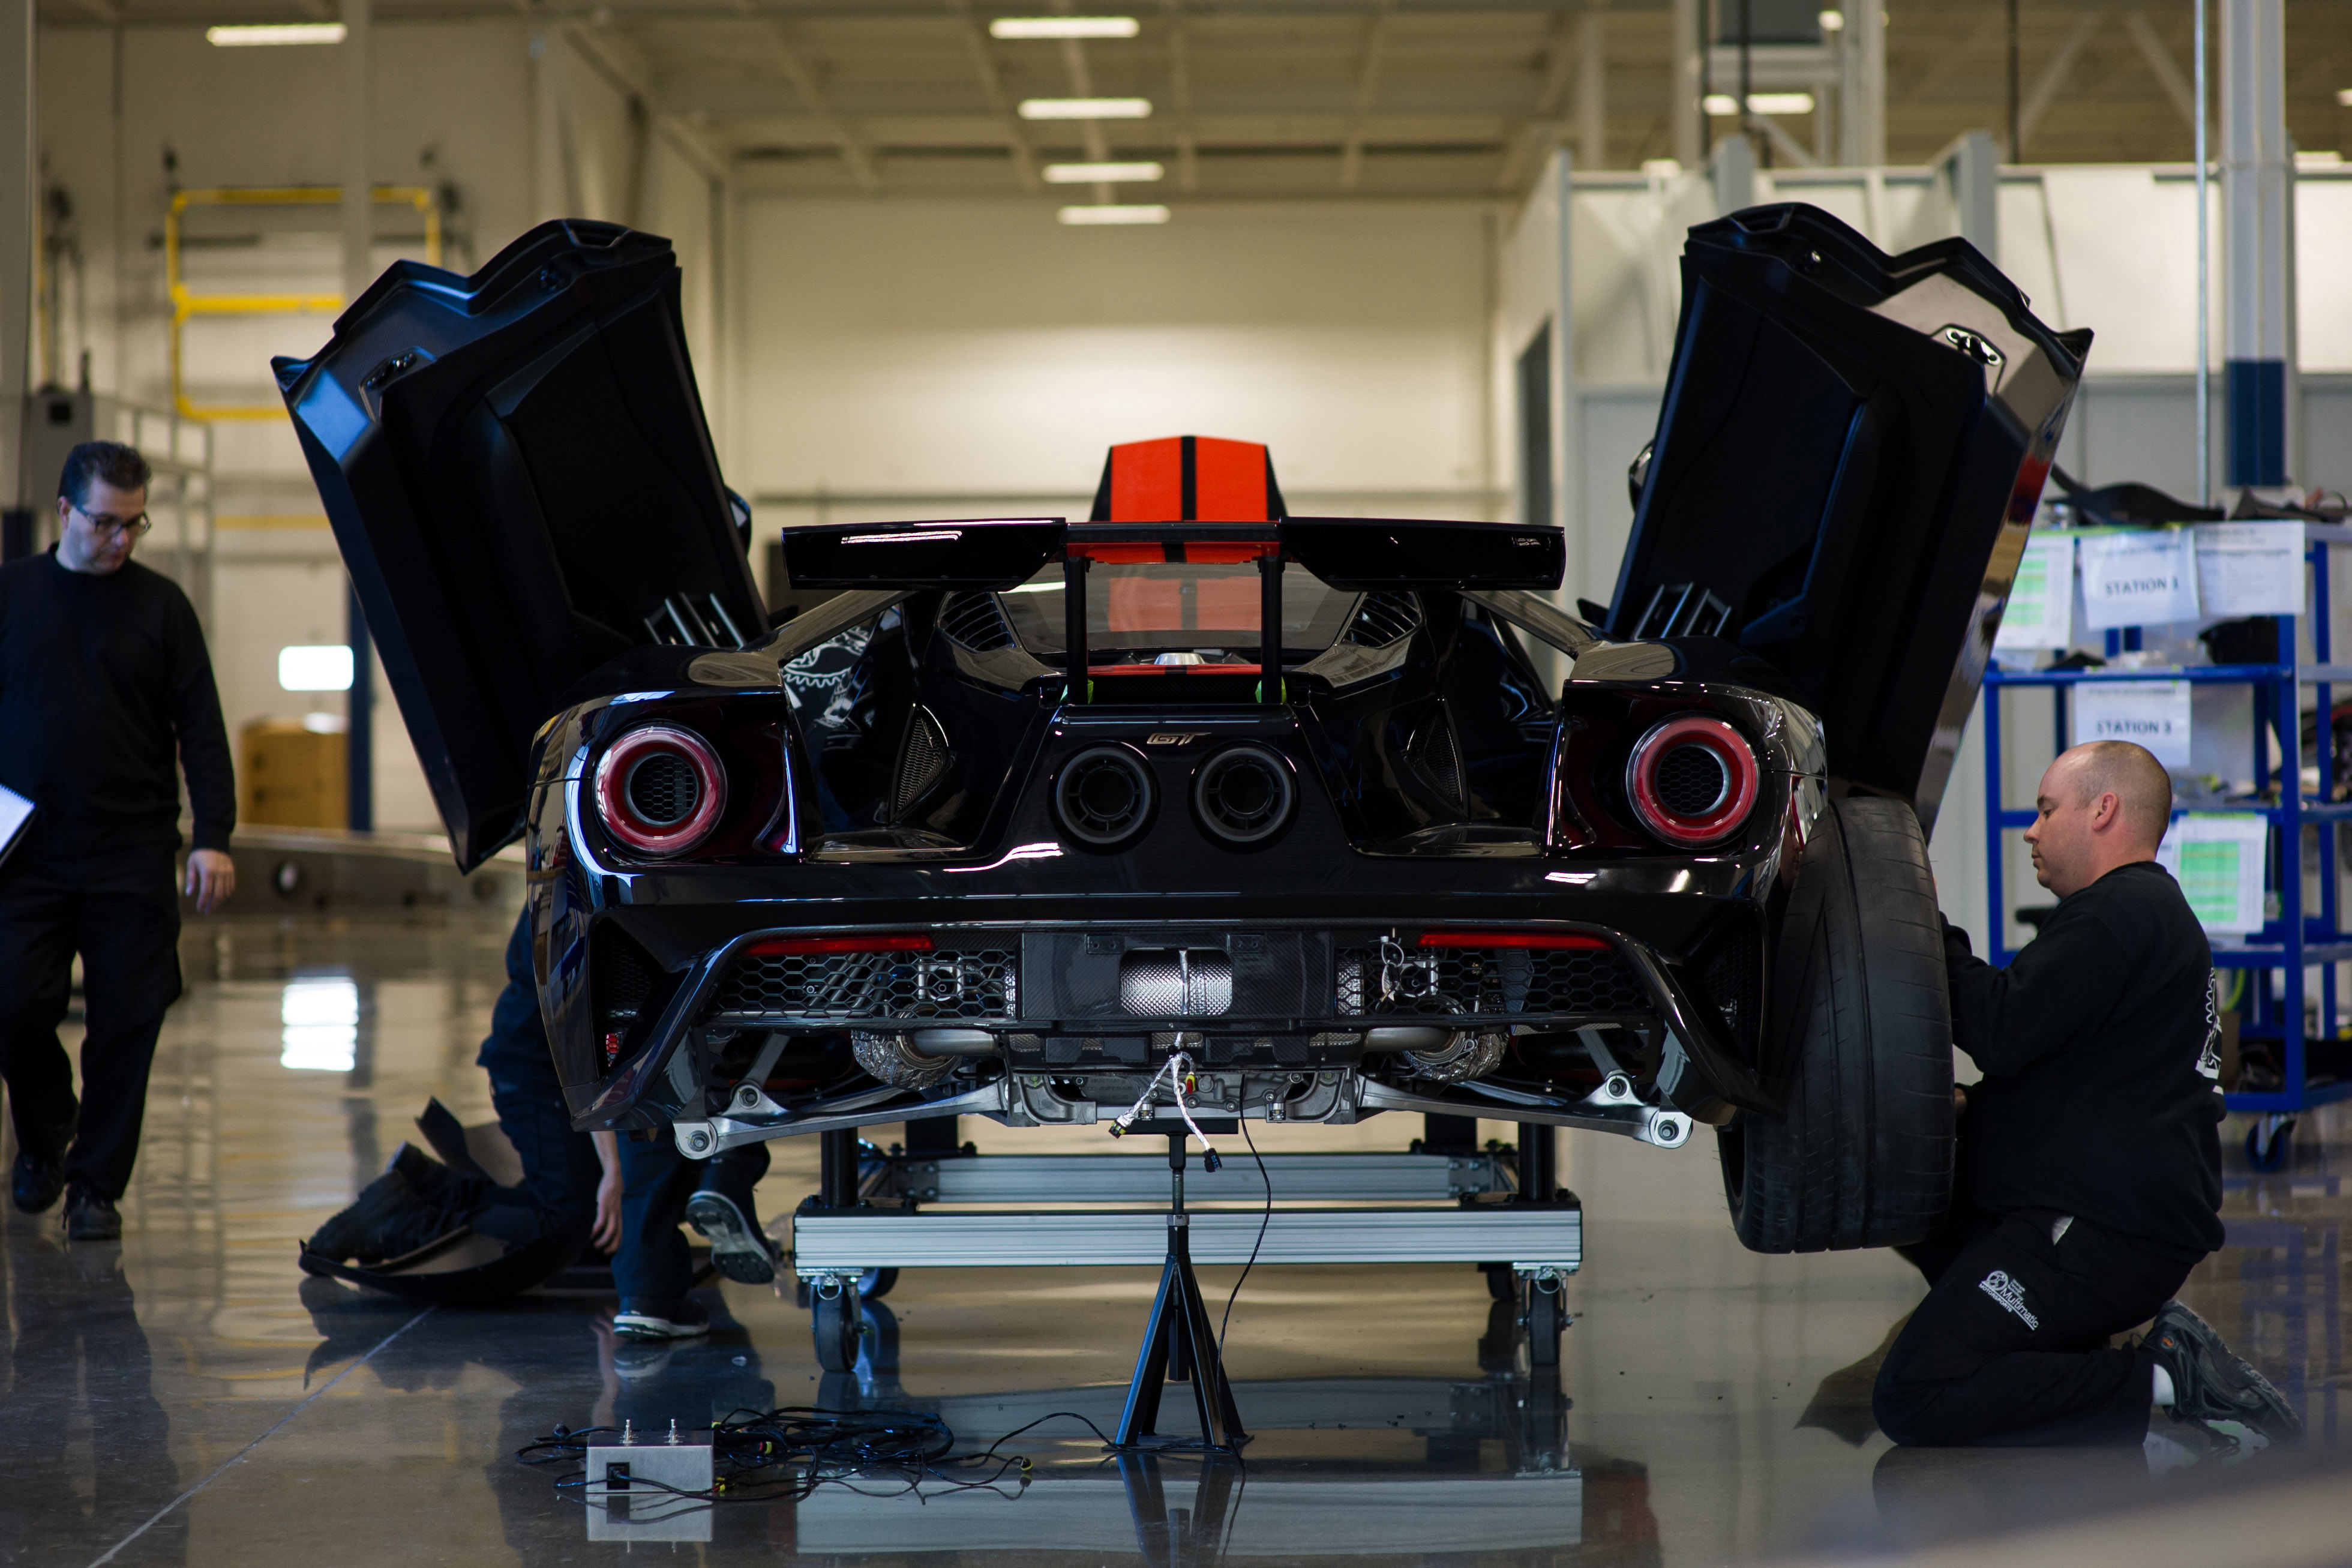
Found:
[[[2286,484],[2296,346],[2284,0],[2220,5],[2223,482]],[[2199,303],[2201,308],[2201,303]]]

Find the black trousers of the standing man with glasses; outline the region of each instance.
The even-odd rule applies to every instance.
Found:
[[[26,844],[0,865],[0,1079],[16,1145],[64,1154],[68,1185],[115,1201],[139,1159],[155,1037],[179,999],[172,851],[33,851]],[[80,1107],[56,1039],[73,999],[73,954],[82,954],[85,1004]]]

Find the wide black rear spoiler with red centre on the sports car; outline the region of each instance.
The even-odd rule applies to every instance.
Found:
[[[793,588],[1002,592],[1054,562],[1296,562],[1331,588],[1559,588],[1559,529],[1508,522],[1284,517],[1282,522],[1068,522],[976,517],[783,531]]]

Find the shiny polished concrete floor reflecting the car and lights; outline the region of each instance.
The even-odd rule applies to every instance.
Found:
[[[2152,1476],[2138,1453],[1898,1453],[1856,1363],[1917,1300],[1910,1269],[1750,1255],[1710,1147],[1566,1135],[1588,1229],[1559,1387],[1494,1340],[1482,1359],[1470,1269],[1261,1269],[1228,1342],[1258,1434],[1242,1472],[1167,1458],[1122,1474],[1056,1420],[1007,1446],[1030,1460],[1025,1488],[915,1497],[877,1479],[590,1519],[515,1450],[557,1425],[659,1432],[795,1403],[936,1410],[974,1448],[1063,1410],[1108,1427],[1155,1276],[908,1272],[873,1307],[868,1361],[830,1382],[807,1312],[771,1288],[713,1288],[708,1342],[649,1349],[614,1342],[609,1298],[416,1312],[306,1281],[296,1239],[428,1095],[489,1117],[473,1051],[503,938],[487,914],[191,924],[122,1244],[68,1246],[54,1213],[5,1220],[0,1563],[1983,1561],[1969,1542],[1987,1533],[2011,1533],[2004,1563],[2352,1559],[2352,1476],[2333,1469],[2352,1131],[2333,1114],[2303,1124],[2279,1175],[2230,1150],[2230,1246],[2187,1291],[2305,1408],[2307,1455]],[[1091,1128],[964,1131],[983,1150],[1103,1147]],[[1418,1131],[1390,1117],[1261,1145]],[[776,1154],[769,1215],[814,1185],[811,1150]],[[1221,1300],[1232,1269],[1202,1279]]]

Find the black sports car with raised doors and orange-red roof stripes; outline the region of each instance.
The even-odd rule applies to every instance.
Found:
[[[1947,1199],[1924,825],[2086,348],[1959,240],[1693,228],[1585,618],[1557,529],[1291,517],[1178,437],[1082,522],[793,529],[833,597],[771,628],[614,226],[278,374],[459,863],[527,839],[576,1126],[1087,1124],[1183,1053],[1228,1119],[1712,1124],[1806,1251]]]

